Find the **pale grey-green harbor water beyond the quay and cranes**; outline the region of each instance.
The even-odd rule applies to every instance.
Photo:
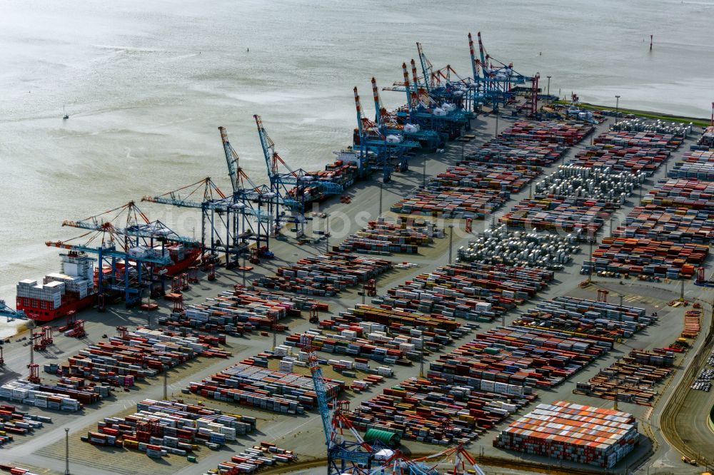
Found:
[[[258,183],[254,113],[293,168],[323,168],[351,141],[352,87],[371,115],[371,76],[400,80],[416,41],[467,77],[466,35],[481,31],[543,90],[552,76],[560,96],[708,117],[713,15],[714,1],[680,0],[0,0],[0,298],[14,307],[18,280],[59,271],[44,242],[81,234],[64,219],[206,176],[229,188],[218,126]],[[198,213],[141,208],[188,236],[200,228]]]

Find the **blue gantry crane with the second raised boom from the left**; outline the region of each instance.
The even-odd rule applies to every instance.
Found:
[[[305,206],[313,201],[319,201],[331,195],[340,195],[344,188],[337,183],[316,179],[316,176],[302,168],[291,168],[276,152],[275,143],[268,136],[261,116],[253,116],[261,140],[263,156],[268,169],[271,193],[275,193],[279,203],[285,210],[302,215]],[[281,214],[278,207],[275,210],[276,226],[280,225]]]

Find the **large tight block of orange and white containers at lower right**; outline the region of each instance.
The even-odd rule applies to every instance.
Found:
[[[511,423],[493,446],[611,468],[638,443],[632,414],[570,402],[538,404]]]

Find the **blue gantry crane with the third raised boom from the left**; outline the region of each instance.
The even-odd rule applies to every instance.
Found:
[[[421,145],[396,133],[382,133],[378,124],[371,121],[362,110],[356,86],[353,91],[357,110],[354,145],[359,150],[361,167],[368,167],[366,173],[369,170],[382,170],[382,181],[388,183],[391,180],[394,163],[397,163],[398,171],[408,170],[408,153],[421,148]]]

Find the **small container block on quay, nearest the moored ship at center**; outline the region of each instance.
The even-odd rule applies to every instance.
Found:
[[[398,218],[396,224],[391,224],[379,218],[348,236],[337,250],[376,255],[391,255],[393,252],[417,254],[419,247],[431,245],[435,237],[444,237],[444,230],[436,228],[433,223],[417,226],[413,220]]]

